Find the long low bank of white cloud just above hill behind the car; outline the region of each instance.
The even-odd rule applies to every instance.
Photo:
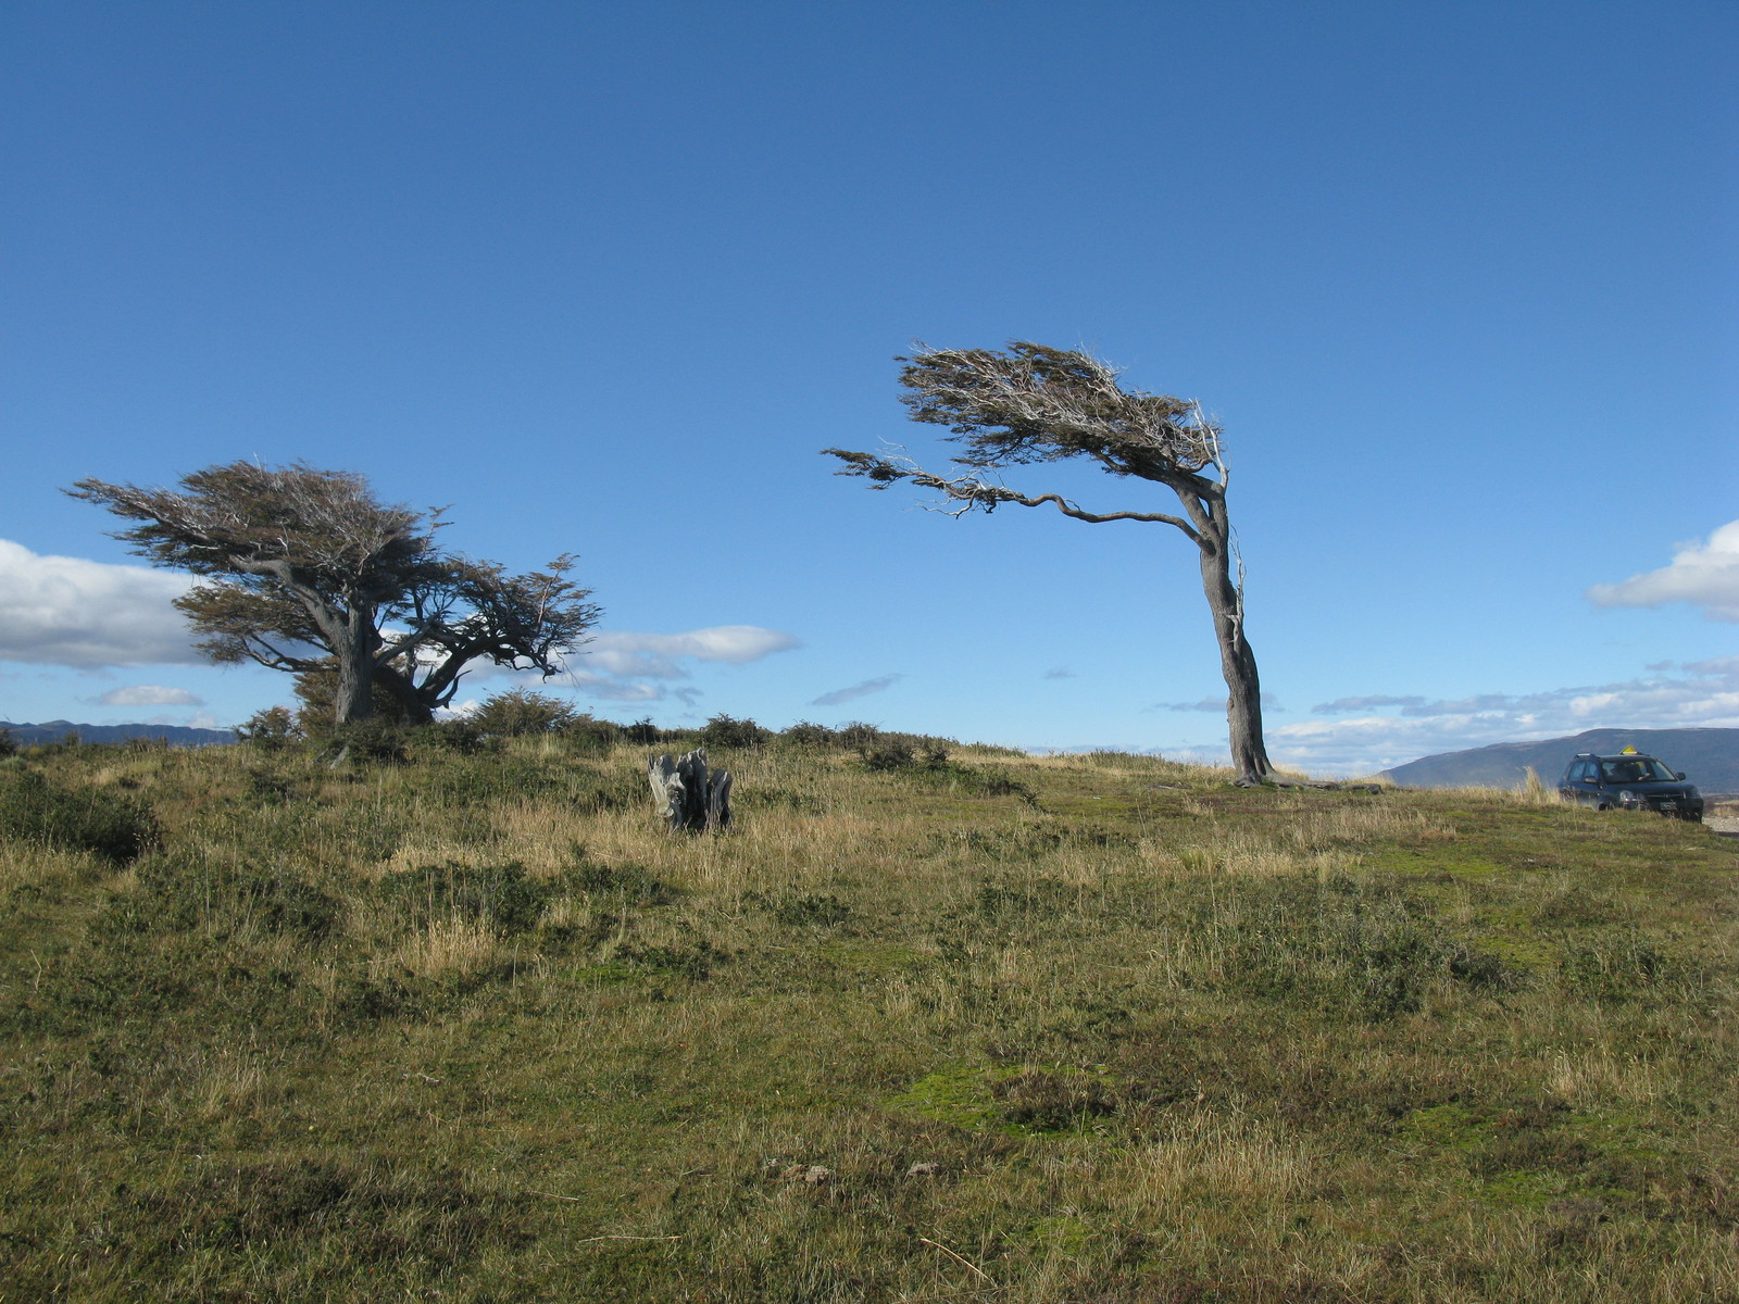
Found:
[[[1657,662],[1659,664],[1659,662]],[[1398,706],[1395,715],[1376,706]],[[1680,666],[1624,683],[1534,694],[1343,697],[1318,713],[1362,711],[1268,730],[1268,753],[1313,774],[1374,774],[1440,751],[1581,734],[1584,729],[1739,727],[1739,657]]]

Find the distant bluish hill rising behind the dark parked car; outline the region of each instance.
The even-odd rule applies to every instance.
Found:
[[[1403,788],[1520,788],[1530,765],[1541,779],[1556,782],[1576,753],[1624,748],[1647,751],[1683,770],[1706,796],[1739,795],[1739,729],[1589,729],[1544,742],[1445,751],[1396,765],[1379,777]]]

